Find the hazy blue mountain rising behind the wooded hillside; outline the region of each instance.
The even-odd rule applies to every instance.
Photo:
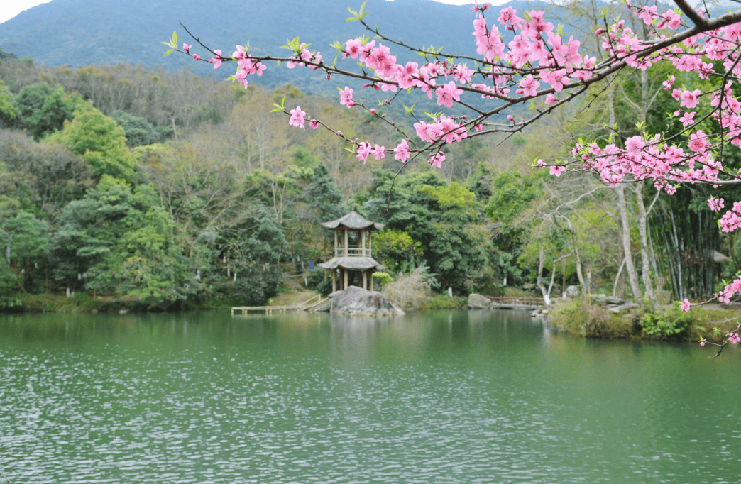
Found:
[[[349,6],[360,7],[359,0],[53,0],[0,24],[0,47],[37,63],[70,65],[144,64],[169,69],[187,68],[199,74],[225,78],[231,66],[214,71],[205,64],[173,53],[162,57],[173,30],[178,43],[193,44],[193,52],[207,56],[202,47],[187,36],[179,24],[212,49],[231,53],[236,44],[250,43],[253,54],[283,53],[287,39],[299,36],[302,42],[322,51],[332,62],[335,50],[330,44],[370,33],[359,22],[347,22]],[[529,2],[532,7],[532,2]],[[519,12],[525,1],[511,2]],[[502,6],[503,7],[503,6]],[[496,21],[494,7],[488,17]],[[403,39],[414,46],[433,44],[443,52],[476,56],[473,43],[471,7],[441,4],[430,0],[368,0],[366,20],[379,26],[392,39]],[[399,52],[399,48],[393,49]],[[421,60],[411,53],[399,59]],[[262,79],[266,87],[293,82],[309,92],[326,92],[322,76],[307,69],[270,68]],[[320,85],[322,84],[322,85]]]

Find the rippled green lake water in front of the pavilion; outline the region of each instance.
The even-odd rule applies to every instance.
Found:
[[[15,483],[741,483],[739,351],[527,314],[0,316]]]

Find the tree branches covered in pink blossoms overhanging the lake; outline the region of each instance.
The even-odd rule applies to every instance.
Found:
[[[483,136],[495,131],[517,133],[525,126],[537,122],[543,116],[579,99],[590,90],[597,96],[604,91],[599,83],[610,81],[623,70],[635,69],[644,72],[653,64],[672,64],[678,70],[697,74],[700,81],[693,79],[694,90],[674,87],[676,79],[671,77],[663,85],[671,91],[671,96],[679,104],[685,130],[672,136],[654,133],[648,126],[639,125],[639,134],[621,136],[608,143],[592,140],[579,140],[574,147],[574,158],[565,163],[551,162],[551,174],[559,176],[571,164],[582,170],[596,173],[611,185],[625,182],[651,182],[657,190],[674,193],[676,185],[687,182],[705,182],[711,185],[733,185],[741,182],[737,172],[728,171],[722,164],[724,153],[733,151],[741,145],[741,102],[734,93],[734,82],[741,73],[738,47],[741,44],[741,10],[731,11],[720,16],[711,16],[708,11],[694,10],[685,0],[675,0],[676,10],[659,13],[657,5],[630,4],[628,8],[643,21],[640,29],[631,29],[625,21],[609,22],[604,16],[604,27],[595,31],[601,36],[602,60],[592,53],[580,51],[581,42],[562,33],[562,28],[545,20],[543,12],[531,10],[524,16],[516,15],[516,10],[508,7],[499,16],[499,26],[505,32],[514,34],[508,44],[502,40],[499,27],[490,26],[485,18],[489,5],[474,4],[476,15],[474,33],[477,53],[482,56],[471,68],[463,64],[470,61],[469,56],[455,56],[442,50],[408,47],[402,42],[383,36],[378,28],[366,21],[363,7],[359,11],[350,9],[350,20],[359,21],[366,30],[376,35],[367,38],[349,39],[345,44],[337,42],[333,47],[337,56],[350,57],[360,61],[360,72],[337,67],[337,62],[323,62],[319,52],[311,51],[296,37],[288,42],[292,56],[252,56],[243,47],[232,56],[222,55],[221,50],[209,50],[207,62],[219,67],[222,62],[237,62],[235,78],[247,86],[247,77],[262,75],[266,66],[263,62],[286,62],[288,67],[310,67],[322,74],[359,78],[366,86],[375,90],[411,89],[436,96],[437,104],[447,108],[453,104],[465,107],[473,113],[471,117],[450,114],[431,115],[425,121],[414,118],[414,128],[418,139],[405,132],[405,127],[388,122],[402,135],[402,142],[396,148],[386,148],[377,143],[350,139],[330,127],[330,120],[313,118],[300,107],[290,109],[285,103],[277,105],[276,110],[290,116],[289,124],[305,129],[322,125],[337,136],[342,136],[350,145],[356,157],[366,162],[370,156],[380,158],[393,153],[396,159],[407,162],[422,153],[428,154],[430,165],[441,167],[445,162],[442,148],[474,136]],[[686,16],[683,22],[680,11]],[[637,31],[639,30],[639,31]],[[376,40],[379,40],[376,45]],[[196,39],[196,42],[197,39]],[[383,45],[385,42],[386,45]],[[177,44],[176,34],[166,42],[170,50],[179,50],[201,59],[191,52],[193,46]],[[397,63],[391,48],[400,47],[413,53],[420,53],[428,61],[419,66],[414,62],[405,65]],[[205,47],[201,44],[201,47]],[[207,47],[206,47],[207,48]],[[212,57],[213,55],[213,57]],[[203,59],[204,61],[206,59]],[[449,79],[449,77],[453,79]],[[641,74],[642,79],[645,76]],[[482,82],[478,82],[482,80]],[[711,79],[711,85],[705,83]],[[438,84],[439,82],[439,84]],[[457,84],[456,84],[457,82]],[[645,83],[642,83],[645,87]],[[694,86],[693,86],[694,87]],[[707,90],[705,90],[707,89]],[[514,90],[514,93],[511,91]],[[499,102],[473,102],[472,96],[484,99],[497,99]],[[392,97],[392,96],[390,96]],[[540,101],[540,99],[544,99]],[[707,115],[694,120],[697,105],[709,99],[710,110]],[[393,100],[396,101],[395,96]],[[643,98],[645,101],[646,98]],[[346,87],[340,94],[342,105],[356,106],[358,109],[382,117],[374,108],[366,106],[357,93]],[[391,100],[387,100],[391,102]],[[529,105],[531,110],[513,110],[520,105]],[[684,107],[685,110],[681,108]],[[507,121],[496,119],[500,113],[510,110]],[[411,116],[414,113],[408,109]],[[617,133],[620,136],[620,133]],[[542,159],[539,166],[549,165]],[[719,190],[720,195],[720,190]],[[708,199],[711,210],[725,208],[725,200],[720,196]],[[638,206],[640,211],[640,205]],[[643,218],[643,213],[639,213]],[[741,202],[727,210],[720,218],[722,231],[734,231],[741,227]],[[641,228],[643,276],[648,277],[645,264],[645,230]],[[648,280],[648,279],[646,279]],[[650,286],[650,284],[649,284]],[[727,285],[717,296],[728,301],[732,294],[741,292],[741,277]],[[685,299],[683,308],[689,307]],[[736,338],[734,338],[736,339]]]

